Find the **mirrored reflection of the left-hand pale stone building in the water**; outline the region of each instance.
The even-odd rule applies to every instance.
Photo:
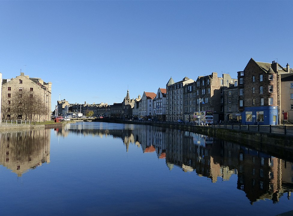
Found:
[[[50,130],[0,133],[0,164],[17,176],[50,163]]]

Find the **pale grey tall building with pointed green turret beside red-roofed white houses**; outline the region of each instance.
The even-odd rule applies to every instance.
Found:
[[[174,82],[172,77],[166,84],[166,121],[183,120],[183,86],[194,82],[193,79],[184,77],[179,82]]]

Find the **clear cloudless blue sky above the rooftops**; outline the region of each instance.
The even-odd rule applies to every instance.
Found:
[[[293,1],[0,1],[0,73],[52,82],[52,108],[120,103],[185,76],[293,66]],[[25,66],[26,65],[26,66]]]

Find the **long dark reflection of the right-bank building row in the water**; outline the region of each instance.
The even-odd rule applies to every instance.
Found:
[[[251,204],[264,199],[276,203],[284,195],[289,199],[293,189],[292,161],[201,134],[149,125],[92,129],[68,124],[58,131],[59,136],[68,133],[119,138],[127,152],[129,145],[136,145],[143,153],[156,152],[159,159],[165,159],[168,169],[177,166],[184,172],[207,177],[212,183],[237,175],[237,188],[246,193]]]

